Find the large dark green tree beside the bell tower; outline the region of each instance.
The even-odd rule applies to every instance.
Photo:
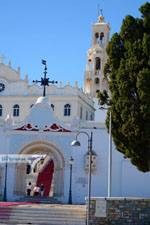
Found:
[[[140,7],[141,18],[127,15],[120,33],[107,46],[104,74],[109,81],[99,94],[112,113],[116,149],[140,171],[150,171],[150,3]],[[106,118],[109,130],[109,113]]]

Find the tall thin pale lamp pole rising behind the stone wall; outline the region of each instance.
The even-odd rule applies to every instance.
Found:
[[[109,153],[108,153],[108,197],[112,197],[112,118],[110,108],[100,107],[99,109],[109,110]]]

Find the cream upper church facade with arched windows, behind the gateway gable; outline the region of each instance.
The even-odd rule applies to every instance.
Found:
[[[46,88],[46,94],[54,106],[55,116],[61,121],[71,122],[74,117],[81,120],[94,120],[94,102],[82,88],[78,87],[77,81],[74,87],[69,83],[63,87],[62,81],[59,87],[52,84]],[[16,123],[21,122],[28,115],[37,98],[42,95],[43,88],[36,84],[29,85],[27,75],[24,80],[21,79],[20,68],[15,71],[10,63],[8,66],[3,62],[0,63],[0,121],[9,114],[14,117]],[[14,115],[15,105],[19,106],[19,113]],[[64,112],[66,105],[70,106],[68,115]]]

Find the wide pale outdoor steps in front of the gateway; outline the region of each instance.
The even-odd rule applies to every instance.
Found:
[[[85,225],[84,205],[0,206],[0,224]]]

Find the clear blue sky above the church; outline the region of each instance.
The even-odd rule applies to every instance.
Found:
[[[110,36],[119,32],[123,18],[140,17],[145,0],[0,0],[0,55],[5,64],[21,67],[21,77],[29,81],[43,76],[42,59],[47,60],[48,77],[78,80],[83,87],[87,50],[92,40],[91,23],[97,22],[98,3]]]

